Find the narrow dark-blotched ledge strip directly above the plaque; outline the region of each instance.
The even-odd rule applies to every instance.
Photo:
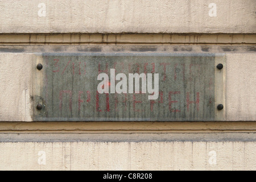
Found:
[[[136,53],[136,52],[172,52],[172,53],[255,53],[256,52],[256,45],[255,46],[208,46],[208,45],[195,45],[195,46],[142,46],[142,44],[137,44],[135,46],[126,45],[102,45],[98,44],[97,46],[93,45],[23,45],[23,46],[14,46],[14,45],[0,45],[0,53],[35,53],[35,52],[78,52],[78,53],[85,53],[85,52],[129,52],[129,53]]]

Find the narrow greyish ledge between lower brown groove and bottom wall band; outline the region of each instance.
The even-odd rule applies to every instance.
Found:
[[[1,142],[251,142],[255,133],[0,133]]]

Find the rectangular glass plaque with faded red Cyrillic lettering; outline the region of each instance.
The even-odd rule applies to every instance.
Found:
[[[225,62],[214,53],[36,54],[33,119],[223,121]]]

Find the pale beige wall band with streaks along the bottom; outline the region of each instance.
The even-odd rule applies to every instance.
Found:
[[[255,142],[0,143],[0,170],[255,170]]]

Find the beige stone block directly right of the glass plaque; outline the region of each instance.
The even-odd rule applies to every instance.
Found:
[[[256,121],[256,55],[226,55],[226,119]]]

